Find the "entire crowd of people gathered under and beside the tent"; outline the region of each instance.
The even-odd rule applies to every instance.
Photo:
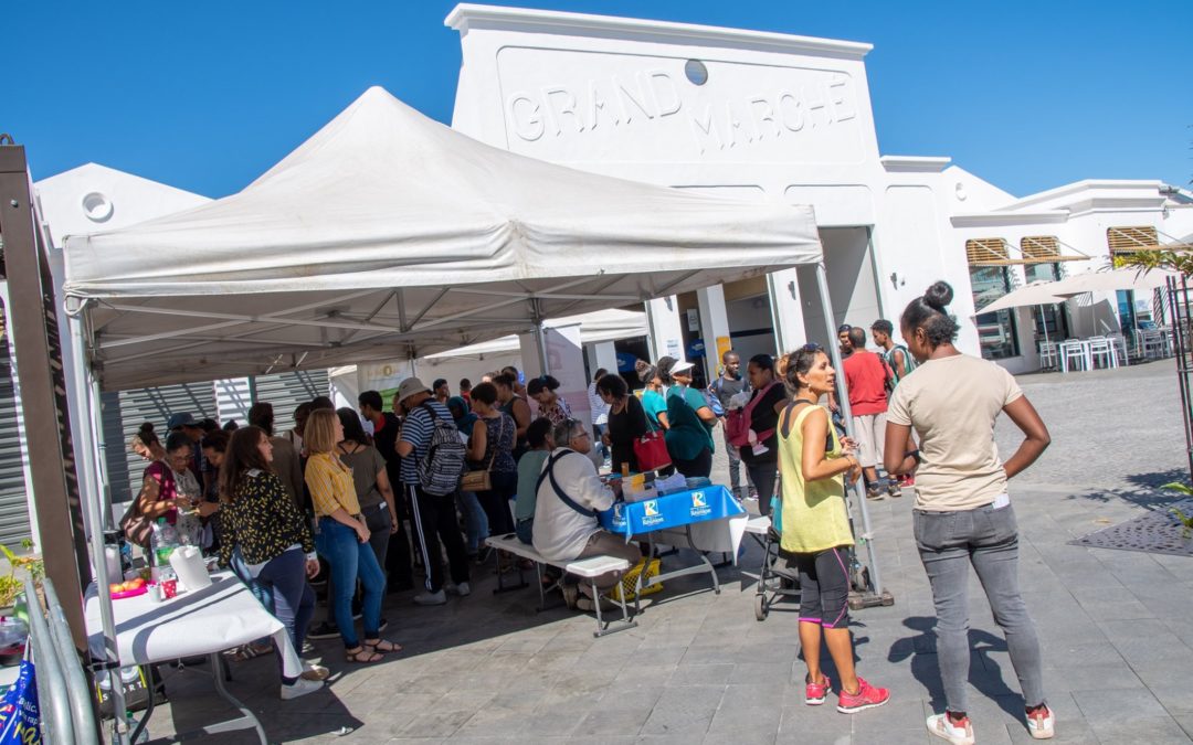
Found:
[[[427,386],[407,378],[388,408],[378,391],[360,393],[357,409],[336,410],[319,397],[299,405],[293,429],[280,435],[267,403],[255,404],[248,426],[231,432],[175,414],[163,445],[148,424],[134,436],[132,448],[150,461],[137,509],[218,552],[286,626],[297,650],[308,637],[339,637],[350,663],[370,664],[401,651],[382,637],[383,595],[413,589],[420,566],[425,579],[415,603],[443,606],[449,595],[470,595],[474,567],[489,560],[490,535],[514,534],[551,561],[614,555],[632,566],[639,548],[598,520],[619,498],[616,476],[649,466],[707,479],[719,427],[734,495],[756,499],[758,511],[772,515],[783,555],[798,571],[808,704],[823,703],[833,690],[820,664],[822,646],[840,678],[839,710],[890,697],[854,668],[846,486],[860,478],[869,498],[882,498],[914,484],[915,540],[937,606],[947,699],[946,712],[929,718],[929,732],[972,743],[965,696],[971,564],[1006,631],[1028,731],[1051,737],[1006,495],[1007,479],[1047,446],[1047,429],[1014,378],[956,349],[951,297],[937,283],[908,305],[900,324],[905,344],[895,343],[891,322],[876,321],[870,340],[878,353],[866,349],[864,329],[841,327],[842,371],[817,344],[779,359],[752,356],[744,373],[741,356],[727,352],[706,389],[693,385],[691,362],[669,356],[639,360],[631,374],[599,370],[587,390],[587,421],[573,416],[558,380],[524,380],[512,367],[484,373],[475,386],[460,380],[455,396],[446,380]],[[841,426],[840,375],[853,437]],[[1005,462],[991,434],[1000,412],[1025,435]],[[642,462],[637,445],[647,439],[661,439],[669,462]],[[613,477],[601,476],[602,467]],[[316,577],[326,578],[328,607],[319,623],[309,582]],[[595,594],[556,579],[570,607],[588,610],[607,602],[604,591],[620,572],[598,578]],[[316,690],[326,673],[307,665],[301,677],[283,678],[283,697]]]

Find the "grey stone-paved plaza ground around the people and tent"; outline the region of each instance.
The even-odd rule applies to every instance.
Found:
[[[1193,559],[1068,545],[1174,501],[1156,489],[1187,478],[1174,367],[1020,378],[1053,437],[1012,483],[1012,498],[1056,741],[1187,743],[1193,734]],[[997,435],[1009,454],[1018,430],[1001,421]],[[713,476],[724,479],[718,455]],[[923,727],[942,710],[942,691],[911,498],[870,507],[896,602],[853,614],[852,628],[859,672],[891,689],[879,709],[849,716],[804,706],[796,614],[780,606],[756,621],[754,582],[731,567],[721,570],[719,595],[699,577],[668,582],[644,602],[637,628],[594,639],[592,619],[562,603],[536,613],[532,588],[493,595],[490,563],[476,569],[472,596],[446,607],[389,596],[385,635],[406,651],[382,664],[346,666],[338,640],[316,642],[333,671],[326,691],[280,701],[273,656],[234,664],[229,688],[271,741],[940,741]],[[747,542],[741,564],[753,571],[761,551]],[[976,581],[971,607],[977,739],[1028,741],[1007,646]],[[172,703],[155,713],[154,737],[229,713],[210,681],[167,675]]]

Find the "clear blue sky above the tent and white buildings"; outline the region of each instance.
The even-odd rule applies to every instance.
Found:
[[[869,42],[879,148],[1018,195],[1193,178],[1193,4],[511,2]],[[0,131],[37,179],[94,161],[239,191],[371,85],[451,118],[455,2],[17,2]]]

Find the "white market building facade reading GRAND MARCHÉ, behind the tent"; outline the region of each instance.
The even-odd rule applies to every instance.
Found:
[[[946,157],[880,155],[869,44],[472,5],[446,24],[463,48],[459,131],[606,175],[812,205],[834,324],[896,321],[945,279],[963,321],[958,346],[1036,370],[1045,327],[1118,330],[1130,316],[1119,298],[975,323],[976,310],[1025,281],[1104,266],[1124,240],[1142,248],[1193,232],[1189,193],[1160,181],[1082,181],[1015,199]],[[692,294],[648,304],[653,352],[706,349],[709,377],[729,346],[748,356],[829,342],[810,273]]]

